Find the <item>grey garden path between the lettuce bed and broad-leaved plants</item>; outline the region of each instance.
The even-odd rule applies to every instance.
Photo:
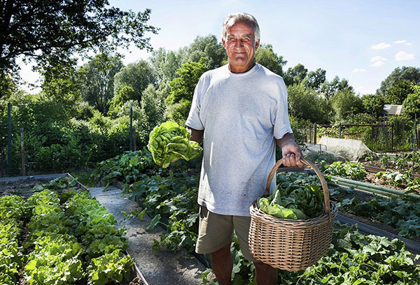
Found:
[[[122,191],[116,187],[90,188],[93,197],[106,207],[118,221],[118,226],[125,226],[129,243],[128,253],[137,263],[137,267],[144,275],[149,285],[194,285],[201,284],[201,272],[207,268],[200,263],[186,249],[181,249],[175,254],[168,251],[153,251],[153,239],[159,240],[164,230],[155,227],[152,231],[146,231],[151,218],[144,215],[144,220],[132,218],[124,221],[121,211],[130,213],[133,210],[141,212],[139,204],[123,197]]]

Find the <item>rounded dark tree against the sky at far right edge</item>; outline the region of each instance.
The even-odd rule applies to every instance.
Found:
[[[416,85],[420,84],[420,68],[412,66],[402,66],[395,68],[384,81],[381,82],[381,87],[377,89],[377,94],[386,96],[388,90],[401,80],[407,80]]]

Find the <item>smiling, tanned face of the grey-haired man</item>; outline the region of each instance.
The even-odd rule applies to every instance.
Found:
[[[222,42],[228,54],[230,71],[244,73],[253,67],[255,50],[260,44],[260,40],[255,43],[253,27],[237,22],[228,29]]]

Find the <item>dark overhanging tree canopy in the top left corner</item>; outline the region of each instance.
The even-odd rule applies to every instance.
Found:
[[[110,52],[134,43],[151,49],[146,32],[151,10],[134,13],[110,7],[107,0],[4,0],[0,3],[0,71],[16,67],[24,56],[40,66],[89,51]],[[53,64],[55,65],[55,64]]]

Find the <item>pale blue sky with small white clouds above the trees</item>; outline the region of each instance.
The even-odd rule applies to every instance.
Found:
[[[420,1],[134,1],[111,0],[112,6],[143,11],[151,8],[149,24],[154,48],[178,50],[197,36],[221,38],[225,15],[246,12],[260,24],[261,43],[272,44],[286,68],[303,64],[323,68],[327,79],[349,80],[359,94],[372,94],[394,68],[420,67]],[[134,47],[124,63],[147,59]],[[34,75],[22,72],[33,82]]]

